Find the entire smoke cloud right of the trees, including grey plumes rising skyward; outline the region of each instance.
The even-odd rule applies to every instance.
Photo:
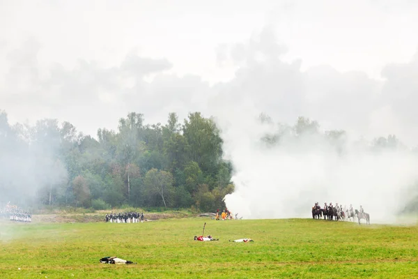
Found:
[[[385,66],[378,81],[281,61],[284,47],[269,29],[248,45],[245,66],[212,100],[225,158],[235,168],[227,207],[245,218],[292,218],[310,217],[315,202],[362,204],[373,223],[396,222],[417,196],[418,156],[409,148],[417,145],[417,112],[408,102],[418,90],[410,80],[418,56]],[[266,59],[258,61],[259,54]],[[260,112],[272,119],[261,124]],[[319,127],[296,123],[298,116]]]

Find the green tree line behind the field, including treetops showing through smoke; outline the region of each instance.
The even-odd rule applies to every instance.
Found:
[[[260,139],[265,148],[326,142],[327,149],[344,152],[343,130],[322,133],[316,121],[302,116],[293,126],[277,125],[265,114],[258,120],[274,127]],[[219,133],[200,112],[189,113],[183,123],[170,113],[164,125],[145,124],[143,114],[130,112],[116,131],[98,129],[96,140],[56,119],[10,126],[0,111],[0,203],[224,209],[225,195],[234,191],[233,166],[222,158]],[[406,149],[394,135],[359,143],[376,152]]]

